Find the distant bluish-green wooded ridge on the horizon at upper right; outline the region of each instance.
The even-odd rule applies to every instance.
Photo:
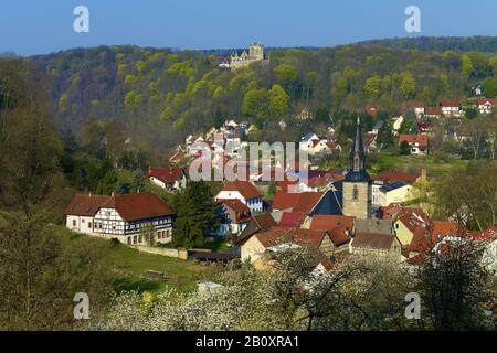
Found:
[[[497,36],[419,36],[373,40],[359,45],[379,45],[396,50],[426,52],[482,52],[497,53]]]

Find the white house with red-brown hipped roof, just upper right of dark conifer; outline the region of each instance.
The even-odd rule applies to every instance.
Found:
[[[264,200],[261,192],[248,181],[232,181],[226,183],[215,195],[215,201],[240,200],[252,213],[264,211]]]

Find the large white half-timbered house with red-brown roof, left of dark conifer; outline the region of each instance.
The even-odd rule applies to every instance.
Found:
[[[169,243],[173,212],[156,194],[139,192],[125,195],[76,194],[65,210],[71,231],[115,238],[124,244]]]

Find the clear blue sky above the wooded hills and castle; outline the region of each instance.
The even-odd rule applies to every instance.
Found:
[[[76,33],[74,8],[89,11]],[[405,31],[405,9],[421,32]],[[175,49],[334,46],[417,35],[497,35],[495,0],[0,0],[0,53],[116,44]]]

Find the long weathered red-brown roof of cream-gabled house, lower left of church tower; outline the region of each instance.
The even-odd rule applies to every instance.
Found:
[[[328,233],[321,231],[273,227],[267,232],[257,233],[254,236],[266,248],[286,243],[318,248],[322,243],[325,235],[328,235]]]

